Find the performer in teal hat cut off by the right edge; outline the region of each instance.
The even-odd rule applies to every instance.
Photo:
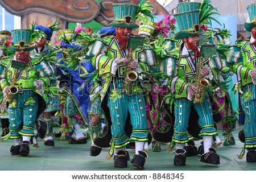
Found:
[[[255,93],[256,93],[256,66],[255,62],[255,42],[256,42],[256,3],[247,7],[250,22],[245,23],[245,29],[251,32],[250,40],[245,40],[234,44],[232,56],[226,61],[227,66],[231,66],[232,71],[237,75],[237,83],[234,89],[239,90],[240,102],[245,112],[245,123],[243,133],[245,142],[242,152],[238,155],[242,159],[247,149],[246,161],[256,162],[256,131],[255,131]]]

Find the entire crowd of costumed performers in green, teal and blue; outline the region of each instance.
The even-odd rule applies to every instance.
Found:
[[[148,151],[160,155],[168,143],[174,166],[195,155],[218,165],[217,147],[236,144],[242,111],[238,158],[256,162],[256,3],[247,7],[250,39],[233,45],[225,26],[212,27],[222,24],[210,0],[177,6],[156,22],[150,1],[114,3],[113,22],[97,32],[58,19],[1,31],[1,142],[14,140],[11,155],[40,150],[38,137],[49,147],[89,140],[94,160],[106,150],[114,167],[143,169]]]

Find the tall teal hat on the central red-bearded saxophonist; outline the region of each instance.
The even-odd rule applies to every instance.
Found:
[[[109,26],[138,28],[139,26],[135,24],[138,7],[131,4],[113,4],[114,21]]]

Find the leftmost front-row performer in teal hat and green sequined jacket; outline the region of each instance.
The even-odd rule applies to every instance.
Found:
[[[13,57],[1,61],[1,88],[7,98],[10,138],[15,145],[11,155],[27,156],[30,153],[30,139],[34,137],[35,121],[46,109],[46,98],[42,97],[48,87],[51,68],[42,59],[31,59],[29,51],[34,30],[12,30],[13,43],[10,46]],[[46,100],[44,100],[44,98]]]

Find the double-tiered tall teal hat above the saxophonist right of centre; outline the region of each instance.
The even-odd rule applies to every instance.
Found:
[[[189,36],[200,35],[199,32],[199,2],[182,2],[178,4],[180,13],[174,14],[179,27],[179,32],[175,35],[175,39],[188,38]]]

